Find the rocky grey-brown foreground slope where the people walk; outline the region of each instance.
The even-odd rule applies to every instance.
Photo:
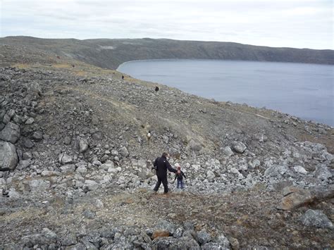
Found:
[[[0,249],[334,247],[333,128],[33,46],[0,59]],[[151,193],[163,151],[183,192]]]

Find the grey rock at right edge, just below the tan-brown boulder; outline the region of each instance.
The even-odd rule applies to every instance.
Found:
[[[308,227],[320,227],[333,229],[333,223],[327,218],[326,214],[319,210],[307,210],[302,215],[302,223]]]

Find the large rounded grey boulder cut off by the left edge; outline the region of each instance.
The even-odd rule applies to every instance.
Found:
[[[0,168],[14,170],[16,165],[18,165],[16,147],[10,142],[0,141]]]

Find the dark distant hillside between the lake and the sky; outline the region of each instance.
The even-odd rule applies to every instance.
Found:
[[[232,42],[171,39],[39,39],[4,37],[0,44],[50,51],[102,68],[116,69],[125,61],[197,58],[245,61],[334,64],[333,50],[271,48]]]

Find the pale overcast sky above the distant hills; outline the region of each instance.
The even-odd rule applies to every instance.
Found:
[[[0,2],[0,37],[151,37],[334,49],[332,0]]]

